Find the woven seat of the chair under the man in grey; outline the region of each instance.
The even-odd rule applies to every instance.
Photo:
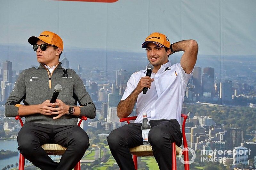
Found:
[[[49,155],[63,155],[67,149],[59,144],[43,144],[41,147]]]

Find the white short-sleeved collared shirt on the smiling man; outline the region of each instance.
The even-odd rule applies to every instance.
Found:
[[[165,70],[169,67],[167,70]],[[140,70],[132,74],[127,82],[127,87],[121,100],[125,100],[137,87],[140,78],[146,76],[147,70]],[[193,71],[192,71],[193,72]],[[139,94],[136,103],[137,119],[135,123],[142,122],[142,113],[146,112],[148,120],[176,119],[180,123],[181,109],[184,101],[186,86],[192,75],[185,73],[180,63],[171,65],[165,63],[153,73],[147,94]]]

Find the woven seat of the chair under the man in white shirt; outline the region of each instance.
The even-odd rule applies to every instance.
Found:
[[[130,152],[132,153],[132,155],[137,155],[137,156],[154,156],[151,145],[136,146],[134,148],[130,148]],[[180,152],[182,152],[182,149],[176,145],[176,155],[179,155]]]

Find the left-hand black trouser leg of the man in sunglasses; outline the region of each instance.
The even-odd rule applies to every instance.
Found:
[[[51,129],[52,125],[25,123],[17,138],[20,153],[42,170],[55,170],[58,166],[41,147],[48,142]]]

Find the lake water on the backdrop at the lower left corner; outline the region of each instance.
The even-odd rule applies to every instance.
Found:
[[[11,150],[11,151],[18,151],[18,143],[17,140],[0,140],[0,150],[3,149],[4,151],[6,150]],[[18,151],[19,152],[19,151]],[[16,162],[19,163],[19,156],[15,156],[15,157],[10,157],[7,159],[0,159],[0,169],[3,169],[4,166],[13,164],[13,167],[16,167],[15,164]]]

